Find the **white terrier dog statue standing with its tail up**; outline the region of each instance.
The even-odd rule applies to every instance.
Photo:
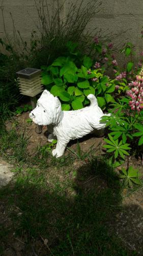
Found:
[[[63,156],[70,140],[81,138],[94,130],[103,130],[104,123],[100,123],[103,115],[97,99],[93,94],[88,95],[90,106],[80,110],[62,111],[60,100],[50,92],[44,90],[37,101],[36,108],[30,113],[30,118],[38,125],[47,125],[48,141],[57,138],[52,155],[56,158]]]

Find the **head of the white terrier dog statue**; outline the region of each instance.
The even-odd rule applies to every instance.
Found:
[[[60,100],[44,90],[30,118],[38,125],[56,124],[60,121],[61,111]]]

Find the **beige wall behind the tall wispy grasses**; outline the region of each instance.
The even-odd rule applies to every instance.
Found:
[[[56,4],[64,0],[56,0]],[[88,1],[88,0],[87,0]],[[115,42],[124,41],[125,39],[137,45],[138,50],[143,50],[140,31],[143,25],[143,1],[142,0],[101,0],[102,5],[100,12],[95,15],[88,29],[93,30],[95,27],[101,28],[103,33],[112,32],[120,34],[127,31],[123,36],[115,36]],[[53,0],[47,0],[51,13]],[[72,0],[76,3],[76,0]],[[2,0],[0,0],[2,4]],[[65,16],[71,1],[67,0],[61,17]],[[19,30],[22,38],[28,40],[32,30],[36,30],[38,14],[34,0],[4,0],[4,18],[6,31],[9,36],[13,36],[13,25],[10,16],[12,13],[16,30]],[[0,13],[1,14],[1,13]],[[5,38],[2,14],[0,15],[0,38]]]

